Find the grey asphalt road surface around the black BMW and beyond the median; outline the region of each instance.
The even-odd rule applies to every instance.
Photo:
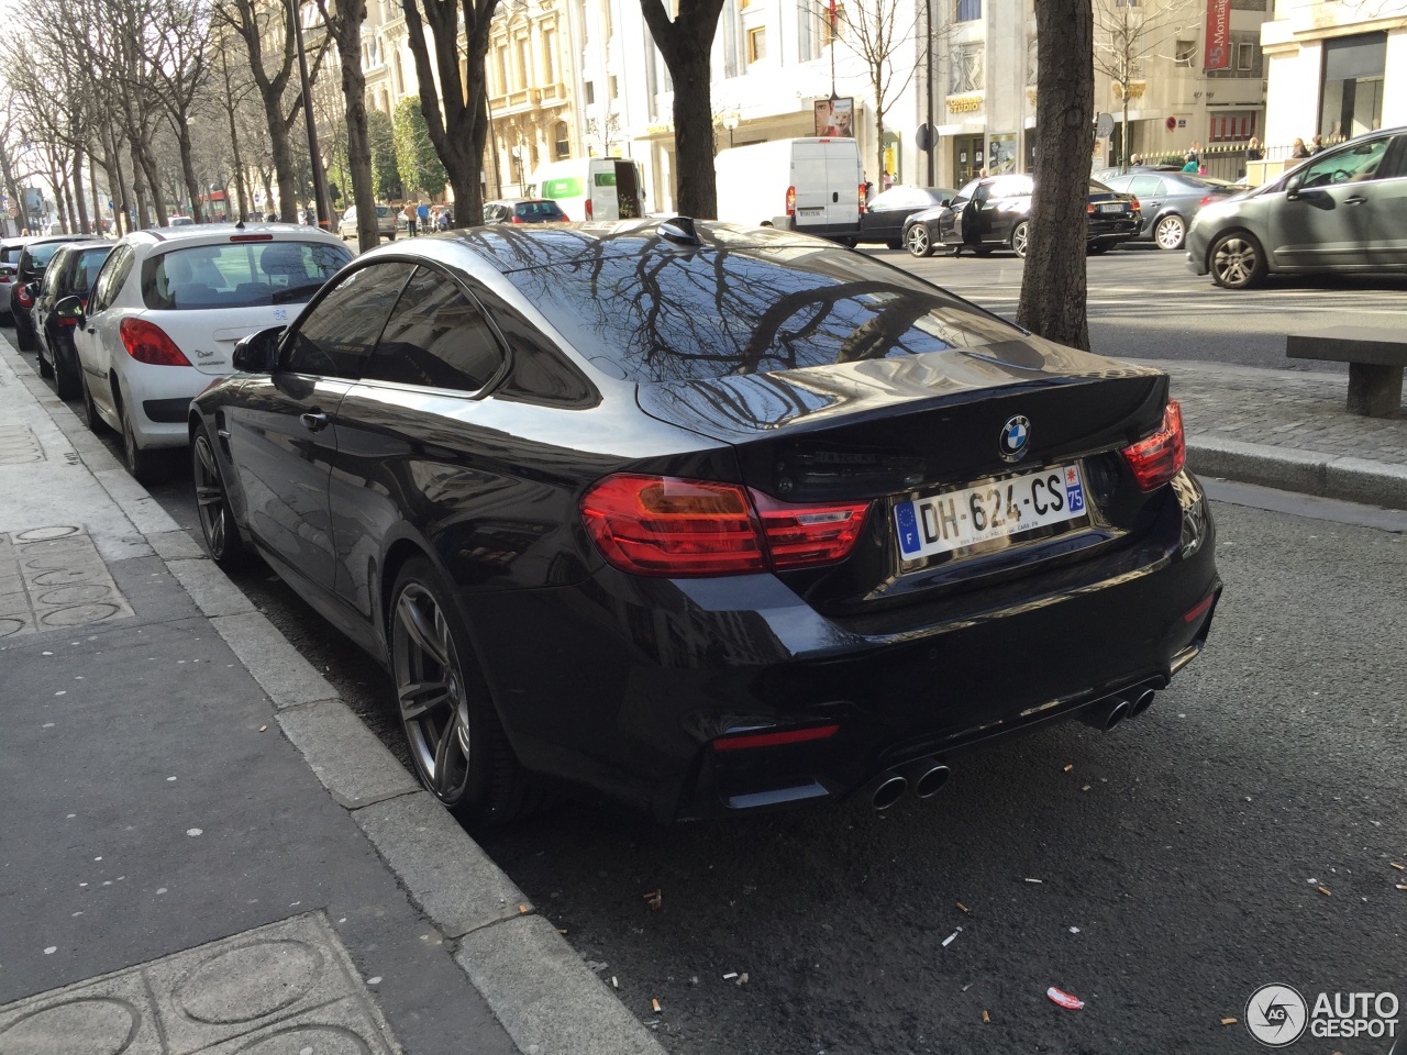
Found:
[[[1014,257],[913,264],[1014,314]],[[1173,253],[1092,259],[1099,350],[1117,338],[1175,357],[1196,339],[1195,357],[1248,362],[1247,347],[1272,354],[1273,329],[1280,357],[1263,364],[1283,366],[1294,319],[1339,318],[1345,297],[1342,283],[1225,294],[1180,269]],[[1380,286],[1352,294],[1361,318],[1401,300]],[[1151,311],[1150,291],[1180,308]],[[153,494],[193,526],[183,464]],[[487,848],[674,1055],[1252,1052],[1258,986],[1407,1000],[1407,878],[1390,868],[1407,864],[1407,542],[1297,508],[1216,505],[1227,589],[1207,651],[1112,734],[1006,744],[884,814],[658,829],[582,796]],[[380,670],[272,573],[239,585],[400,751]],[[1071,647],[1092,646],[1071,629]],[[1057,1007],[1050,986],[1085,1009]]]

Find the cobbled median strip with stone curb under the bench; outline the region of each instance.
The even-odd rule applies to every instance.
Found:
[[[1407,407],[1348,412],[1348,373],[1131,360],[1172,376],[1199,475],[1407,509]]]

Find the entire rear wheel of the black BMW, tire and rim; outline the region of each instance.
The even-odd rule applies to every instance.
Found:
[[[395,577],[387,612],[397,710],[415,775],[473,827],[499,827],[529,806],[508,743],[449,589],[424,557]]]

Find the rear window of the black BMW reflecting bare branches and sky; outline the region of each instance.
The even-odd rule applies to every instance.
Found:
[[[609,243],[602,243],[608,246]],[[860,253],[609,249],[508,276],[598,369],[689,381],[1010,340],[1017,331]]]

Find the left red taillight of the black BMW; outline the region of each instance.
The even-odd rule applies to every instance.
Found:
[[[854,549],[868,502],[799,505],[739,484],[606,477],[581,498],[597,549],[636,575],[737,575],[815,567]]]

